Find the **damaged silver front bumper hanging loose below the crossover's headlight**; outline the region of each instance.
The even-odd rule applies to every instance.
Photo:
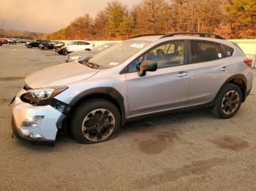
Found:
[[[64,114],[53,106],[33,106],[23,102],[20,95],[26,93],[20,90],[12,106],[12,131],[15,137],[32,144],[54,146],[60,120]]]

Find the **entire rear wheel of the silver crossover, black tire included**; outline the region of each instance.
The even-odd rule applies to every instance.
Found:
[[[230,104],[230,103],[233,103],[232,100],[229,100],[230,102],[225,101],[225,98],[230,99],[230,97],[227,96],[227,93],[230,93],[230,92],[231,92],[231,96],[233,93],[235,94],[233,98],[234,99],[233,102],[236,102],[236,104]],[[223,87],[222,90],[219,91],[215,101],[215,105],[211,107],[211,113],[214,114],[216,117],[219,117],[222,119],[228,119],[230,117],[233,117],[233,115],[235,115],[240,109],[240,106],[242,103],[242,96],[243,95],[241,92],[241,88],[238,87],[238,85],[234,85],[234,84],[225,85],[225,87]],[[224,103],[225,105],[222,106],[222,104]]]

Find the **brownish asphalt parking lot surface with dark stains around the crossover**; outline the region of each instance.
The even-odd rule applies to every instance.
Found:
[[[255,85],[229,120],[201,109],[129,122],[100,144],[12,139],[8,104],[24,76],[59,63],[50,50],[0,47],[0,190],[255,190]]]

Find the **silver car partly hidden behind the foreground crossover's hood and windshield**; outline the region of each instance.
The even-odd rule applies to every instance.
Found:
[[[66,63],[73,62],[73,61],[84,61],[86,58],[93,57],[98,52],[107,49],[108,47],[112,47],[116,43],[107,43],[99,45],[98,47],[94,48],[93,50],[81,50],[69,53],[66,57]]]

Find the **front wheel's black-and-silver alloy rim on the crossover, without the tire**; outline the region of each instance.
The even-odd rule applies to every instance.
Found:
[[[95,109],[89,112],[83,120],[83,136],[90,141],[107,139],[115,126],[115,117],[108,109]]]

